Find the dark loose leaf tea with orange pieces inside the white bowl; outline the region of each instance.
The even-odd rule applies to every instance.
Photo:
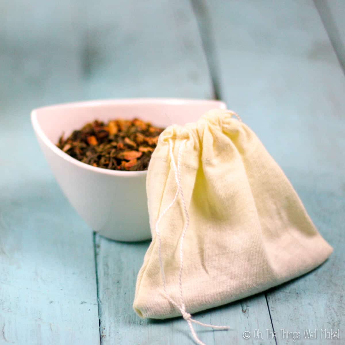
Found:
[[[158,137],[157,128],[139,119],[117,119],[107,124],[95,120],[67,138],[61,135],[57,147],[73,158],[94,167],[112,170],[147,170]]]

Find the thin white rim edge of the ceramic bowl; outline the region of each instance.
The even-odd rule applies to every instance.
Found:
[[[67,160],[71,164],[74,164],[82,169],[90,170],[93,172],[98,172],[100,174],[105,175],[113,175],[113,176],[121,176],[121,177],[139,177],[139,176],[146,176],[147,170],[140,170],[140,171],[122,171],[122,170],[111,170],[105,168],[94,167],[92,165],[83,163],[76,158],[71,157],[66,152],[63,152],[59,149],[43,132],[37,118],[37,111],[49,111],[53,108],[60,108],[63,110],[64,108],[78,108],[78,107],[99,107],[103,105],[120,105],[120,104],[169,104],[169,105],[183,105],[187,103],[218,103],[218,107],[220,109],[226,109],[226,103],[220,100],[215,99],[189,99],[189,98],[119,98],[119,99],[99,99],[99,100],[91,100],[91,101],[80,101],[80,102],[69,102],[69,103],[58,103],[54,105],[44,106],[35,108],[31,111],[31,124],[36,132],[36,134],[40,137],[43,143],[52,150],[56,155],[61,157],[62,159]]]

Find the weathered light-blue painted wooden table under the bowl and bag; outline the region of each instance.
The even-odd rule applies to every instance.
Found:
[[[93,234],[30,125],[38,106],[136,96],[225,100],[334,247],[301,278],[197,314],[233,328],[198,328],[202,341],[344,343],[345,77],[314,2],[18,0],[0,19],[0,344],[192,343],[182,318],[134,313],[149,242]],[[305,339],[309,328],[341,339]]]

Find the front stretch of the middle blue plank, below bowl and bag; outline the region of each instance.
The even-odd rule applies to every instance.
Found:
[[[97,268],[100,332],[102,344],[189,344],[193,338],[183,318],[140,319],[132,309],[135,284],[142,259],[149,246],[143,243],[118,243],[97,236]],[[263,303],[264,300],[264,303]],[[204,323],[230,325],[234,330],[210,331],[196,326],[206,344],[238,344],[244,331],[270,329],[265,297],[254,296],[195,315]],[[266,331],[265,331],[266,332]],[[248,339],[247,344],[258,344]],[[265,344],[274,344],[274,340]]]

